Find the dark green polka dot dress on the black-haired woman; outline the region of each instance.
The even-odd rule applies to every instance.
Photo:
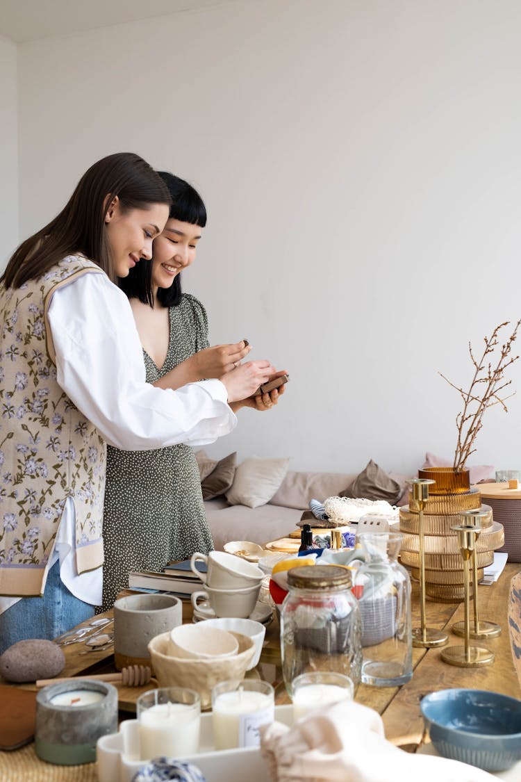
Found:
[[[184,293],[170,307],[170,343],[159,370],[143,351],[147,382],[208,347],[205,308]],[[172,559],[207,554],[212,536],[202,502],[194,452],[187,445],[128,451],[109,446],[103,511],[103,610],[128,587],[130,570],[161,572]]]

